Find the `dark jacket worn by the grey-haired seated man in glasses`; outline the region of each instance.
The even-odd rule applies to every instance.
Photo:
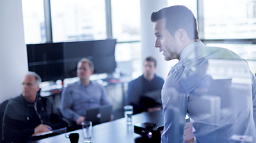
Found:
[[[3,119],[3,138],[12,142],[26,142],[39,124],[47,124],[52,130],[64,128],[60,112],[44,97],[36,95],[33,103],[22,94],[9,100]]]

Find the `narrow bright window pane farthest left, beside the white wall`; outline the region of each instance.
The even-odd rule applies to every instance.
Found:
[[[44,43],[44,0],[22,0],[25,43]]]

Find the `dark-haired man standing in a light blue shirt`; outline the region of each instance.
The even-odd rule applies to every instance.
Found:
[[[179,59],[162,89],[161,142],[183,142],[186,114],[195,142],[256,142],[256,81],[246,61],[230,50],[205,46],[185,6],[153,12],[151,21],[155,47],[166,61]]]

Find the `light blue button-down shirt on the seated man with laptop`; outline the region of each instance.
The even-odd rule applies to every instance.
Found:
[[[68,85],[61,94],[61,111],[67,119],[76,121],[80,116],[86,116],[86,110],[110,104],[106,89],[95,81],[88,86],[77,81]]]

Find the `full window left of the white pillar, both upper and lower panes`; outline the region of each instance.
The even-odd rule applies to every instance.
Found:
[[[113,38],[117,68],[123,75],[137,78],[142,74],[140,1],[111,0]]]

